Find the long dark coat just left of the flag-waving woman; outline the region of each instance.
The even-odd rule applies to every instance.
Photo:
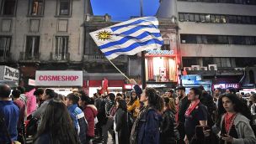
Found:
[[[128,131],[128,114],[121,108],[118,108],[115,113],[115,131],[118,132],[118,143],[129,144],[129,131]]]

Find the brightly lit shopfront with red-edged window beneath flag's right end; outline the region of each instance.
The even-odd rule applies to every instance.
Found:
[[[176,36],[163,33],[161,49],[147,50],[145,54],[146,83],[151,85],[177,84],[178,58]]]

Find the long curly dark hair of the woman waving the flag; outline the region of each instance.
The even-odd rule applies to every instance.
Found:
[[[157,111],[163,111],[163,99],[157,94],[154,88],[145,89],[148,105],[154,107]]]

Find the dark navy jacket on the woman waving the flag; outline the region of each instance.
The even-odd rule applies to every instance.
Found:
[[[160,116],[157,111],[150,109],[146,111],[139,121],[137,140],[138,144],[159,144]]]

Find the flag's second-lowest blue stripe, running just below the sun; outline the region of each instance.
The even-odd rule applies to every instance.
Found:
[[[148,33],[148,32],[143,32],[141,33],[140,35],[136,36],[136,37],[132,37],[132,36],[126,36],[118,41],[115,41],[115,42],[110,42],[110,43],[107,43],[107,44],[104,44],[104,45],[101,45],[99,46],[99,49],[106,49],[106,48],[109,48],[111,46],[114,46],[114,45],[118,45],[118,44],[124,44],[125,42],[127,42],[128,40],[131,40],[131,39],[143,39],[145,37],[147,37],[148,35],[152,35],[154,37],[161,37],[161,34],[160,33]],[[123,35],[120,35],[120,37],[122,37]]]

